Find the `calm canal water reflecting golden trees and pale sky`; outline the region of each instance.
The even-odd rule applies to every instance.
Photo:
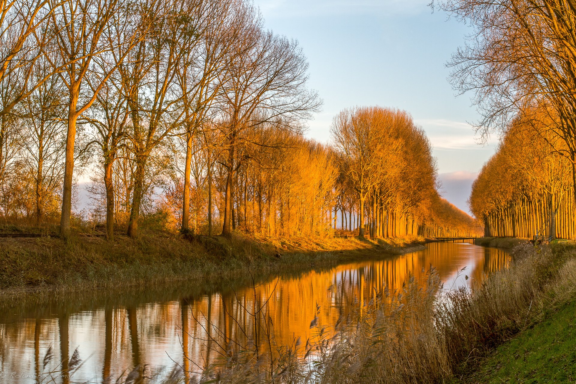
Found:
[[[82,365],[70,379],[55,372],[52,382],[100,383],[103,377],[117,378],[139,364],[146,364],[150,372],[175,364],[199,371],[217,357],[207,352],[214,344],[245,343],[242,330],[253,329],[255,321],[249,313],[266,302],[276,340],[290,344],[310,337],[314,318],[318,325],[334,325],[353,302],[369,301],[382,287],[400,288],[408,273],[423,280],[433,266],[445,289],[454,289],[480,282],[508,262],[507,253],[499,249],[441,242],[386,260],[280,276],[242,276],[220,286],[190,282],[13,303],[0,313],[0,383],[37,383],[38,373],[62,369],[74,351]],[[52,359],[44,367],[47,353]]]

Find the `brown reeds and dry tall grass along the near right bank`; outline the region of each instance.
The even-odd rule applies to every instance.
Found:
[[[283,346],[272,349],[278,358],[268,360],[245,352],[209,372],[223,383],[251,382],[241,377],[305,382],[310,371],[315,382],[331,383],[446,382],[469,375],[495,345],[576,298],[573,243],[520,245],[513,256],[509,268],[472,291],[439,294],[441,284],[432,270],[426,282],[410,278],[400,291],[382,291],[359,303],[357,312],[334,329],[318,329],[301,354],[297,347]],[[302,356],[313,356],[313,362]]]

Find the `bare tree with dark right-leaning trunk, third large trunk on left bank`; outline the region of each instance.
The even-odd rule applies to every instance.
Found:
[[[143,181],[150,155],[180,126],[185,115],[177,74],[185,56],[194,50],[199,40],[194,30],[196,25],[189,18],[194,6],[194,2],[186,0],[164,0],[148,5],[146,17],[153,22],[153,28],[131,54],[131,62],[120,67],[127,83],[133,128],[129,138],[136,162],[128,223],[130,237],[138,234],[140,206],[145,194]]]

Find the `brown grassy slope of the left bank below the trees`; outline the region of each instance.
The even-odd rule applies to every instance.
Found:
[[[241,234],[188,237],[158,231],[138,239],[75,235],[0,239],[0,297],[77,286],[112,287],[178,279],[217,279],[238,271],[335,264],[410,252],[423,238],[374,243],[355,238],[280,239]]]

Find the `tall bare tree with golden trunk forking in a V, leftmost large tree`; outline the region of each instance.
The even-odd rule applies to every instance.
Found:
[[[62,3],[48,0],[48,3],[52,10],[51,28],[56,31],[58,50],[53,55],[47,52],[46,56],[53,68],[63,67],[59,76],[68,90],[66,164],[60,219],[60,235],[66,237],[70,234],[74,140],[78,117],[90,108],[130,49],[124,49],[120,57],[116,56],[115,62],[107,66],[96,66],[94,61],[115,49],[109,45],[109,41],[113,40],[106,37],[113,32],[111,24],[129,22],[126,19],[129,18],[131,6],[137,3],[131,0],[65,0]],[[124,15],[125,19],[115,17],[118,15]],[[134,47],[143,32],[135,31],[134,35],[127,36],[124,44]]]

